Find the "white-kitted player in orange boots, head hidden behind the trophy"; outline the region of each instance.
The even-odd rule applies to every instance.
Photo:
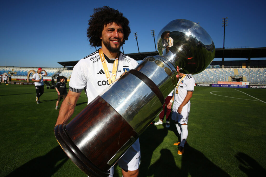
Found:
[[[194,84],[195,80],[191,75],[179,73],[177,87],[174,89],[173,97],[167,105],[168,109],[170,109],[173,104],[172,119],[175,121],[180,136],[180,142],[176,142],[174,145],[179,145],[177,152],[179,155],[184,153],[184,145],[188,137],[188,115]]]

